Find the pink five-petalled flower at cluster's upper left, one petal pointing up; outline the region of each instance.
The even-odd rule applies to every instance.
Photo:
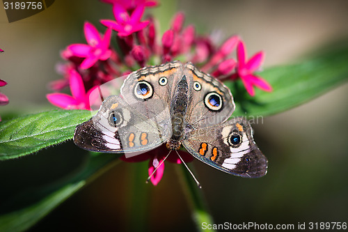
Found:
[[[111,56],[111,50],[109,49],[111,29],[107,29],[104,37],[101,38],[95,26],[86,22],[84,32],[88,45],[73,44],[68,46],[68,50],[72,56],[85,57],[86,59],[82,61],[80,68],[87,69],[92,67],[98,60],[105,61]]]

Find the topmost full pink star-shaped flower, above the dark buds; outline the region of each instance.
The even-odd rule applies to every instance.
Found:
[[[140,22],[141,16],[143,16],[145,6],[140,4],[136,6],[132,15],[129,16],[127,10],[120,4],[115,3],[113,5],[113,15],[116,21],[113,20],[100,20],[104,26],[107,26],[115,31],[118,31],[118,36],[129,36],[136,31],[141,31],[148,26],[149,21]]]

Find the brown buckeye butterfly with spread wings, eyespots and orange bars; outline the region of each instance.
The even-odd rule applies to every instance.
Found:
[[[95,152],[139,155],[166,144],[184,146],[198,160],[235,176],[267,173],[267,158],[253,129],[235,110],[222,82],[192,63],[173,61],[132,72],[120,95],[106,98],[89,121],[76,127],[74,144]]]

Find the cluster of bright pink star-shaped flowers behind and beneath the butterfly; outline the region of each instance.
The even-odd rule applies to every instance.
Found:
[[[262,65],[264,52],[258,52],[247,59],[244,42],[239,36],[231,36],[222,45],[216,46],[209,36],[198,35],[195,26],[184,26],[184,13],[177,13],[171,28],[159,40],[156,19],[152,16],[142,19],[145,8],[157,6],[157,1],[101,1],[112,5],[114,20],[100,20],[106,26],[104,34],[97,31],[93,24],[86,22],[86,44],[72,44],[61,52],[62,58],[67,62],[58,66],[58,72],[64,78],[52,82],[50,86],[54,91],[70,86],[72,95],[48,94],[47,99],[53,105],[63,109],[90,109],[88,95],[97,86],[144,66],[175,60],[190,61],[203,72],[222,81],[242,79],[246,91],[252,96],[255,95],[254,86],[271,91],[271,86],[254,74]],[[116,33],[114,38],[117,49],[110,45],[112,33]],[[235,50],[236,59],[232,57]],[[134,159],[150,159],[150,174],[156,164],[163,160],[163,154],[166,153],[159,152],[158,148],[134,158],[124,157],[123,160],[134,162]],[[190,161],[185,158],[186,160]],[[163,170],[164,165],[152,176],[154,185],[161,179]]]

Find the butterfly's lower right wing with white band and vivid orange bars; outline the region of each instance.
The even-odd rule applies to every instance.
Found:
[[[185,135],[184,147],[198,160],[235,176],[256,178],[267,173],[267,158],[253,140],[251,125],[232,118]]]

